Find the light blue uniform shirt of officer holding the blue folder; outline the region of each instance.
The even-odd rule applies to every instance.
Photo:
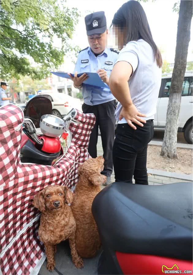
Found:
[[[96,57],[90,47],[87,47],[80,51],[74,73],[76,71],[78,73],[96,73],[99,69],[105,69],[109,77],[117,57],[118,52],[107,48]],[[82,84],[82,95],[84,103],[87,105],[98,105],[115,99],[109,88],[85,85],[84,83]]]

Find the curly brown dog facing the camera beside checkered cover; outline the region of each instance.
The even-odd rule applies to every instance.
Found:
[[[36,194],[32,202],[42,212],[38,234],[45,246],[48,270],[55,267],[56,244],[66,239],[69,239],[74,265],[83,267],[83,260],[75,247],[76,223],[68,205],[72,200],[73,193],[67,186],[51,185]]]

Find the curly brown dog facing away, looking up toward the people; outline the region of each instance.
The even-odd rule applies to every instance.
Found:
[[[71,208],[76,220],[76,248],[83,258],[93,257],[101,244],[91,206],[93,199],[100,192],[100,185],[107,179],[100,174],[104,168],[103,164],[104,158],[98,156],[86,160],[78,169],[79,180]]]

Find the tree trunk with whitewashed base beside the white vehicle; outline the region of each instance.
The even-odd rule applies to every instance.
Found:
[[[192,1],[181,1],[178,18],[175,63],[172,73],[171,87],[169,89],[165,134],[161,149],[161,155],[167,155],[169,158],[177,157],[176,147],[181,104],[181,90],[186,71],[191,18]]]

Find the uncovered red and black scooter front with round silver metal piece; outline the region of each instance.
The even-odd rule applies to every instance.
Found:
[[[42,96],[32,98],[24,110],[20,159],[23,163],[51,165],[63,155],[60,139],[75,116],[72,109],[63,119],[51,115],[51,101]]]

